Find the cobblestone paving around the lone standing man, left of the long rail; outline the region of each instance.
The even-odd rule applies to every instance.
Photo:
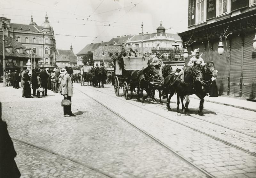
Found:
[[[0,90],[5,92],[0,96],[3,120],[13,139],[95,167],[113,177],[206,177],[76,89],[72,111],[77,117],[69,118],[63,117],[60,106],[63,97],[59,94],[48,91],[48,97],[28,99],[20,96],[21,90]],[[62,159],[58,160],[60,164],[54,164],[57,158],[50,159],[54,163],[49,162],[44,159],[45,152],[40,155],[35,149],[27,153],[25,147],[15,145],[17,165],[22,175],[27,173],[24,177],[49,177],[50,174],[52,177],[87,177],[83,166],[75,170]],[[28,159],[28,164],[23,164],[24,159]]]

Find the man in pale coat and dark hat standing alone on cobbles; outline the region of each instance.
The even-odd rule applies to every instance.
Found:
[[[73,74],[73,69],[71,67],[67,68],[67,74],[63,77],[63,86],[61,94],[64,96],[64,99],[68,99],[70,102],[71,97],[73,96],[73,80],[71,75]],[[70,117],[70,116],[76,116],[76,114],[73,114],[71,111],[71,105],[70,106],[63,106],[63,114],[64,117]]]

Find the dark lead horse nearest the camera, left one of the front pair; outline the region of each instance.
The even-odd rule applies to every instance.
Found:
[[[161,87],[159,87],[159,90],[163,90],[162,93],[159,91],[159,98],[161,98],[163,93],[170,94],[170,96],[167,99],[168,110],[171,110],[170,100],[173,94],[175,93],[175,91],[177,93],[177,97],[178,97],[178,94],[179,96],[185,96],[185,93],[187,93],[187,91],[194,90],[193,85],[195,80],[202,81],[203,75],[202,75],[201,68],[196,65],[194,67],[187,67],[184,70],[184,74],[181,76],[181,80],[176,80],[176,77],[177,76],[175,76],[174,74],[167,76],[164,79],[164,84]],[[180,105],[180,100],[177,100],[178,113],[180,113],[179,105]]]

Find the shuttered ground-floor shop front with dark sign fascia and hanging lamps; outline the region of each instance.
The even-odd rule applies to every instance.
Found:
[[[256,10],[253,10],[179,33],[189,54],[199,48],[204,61],[214,62],[220,96],[256,99],[255,27]]]

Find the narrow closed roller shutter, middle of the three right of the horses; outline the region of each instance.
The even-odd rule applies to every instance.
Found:
[[[242,63],[242,40],[235,36],[230,51],[230,96],[240,96],[240,77]]]

